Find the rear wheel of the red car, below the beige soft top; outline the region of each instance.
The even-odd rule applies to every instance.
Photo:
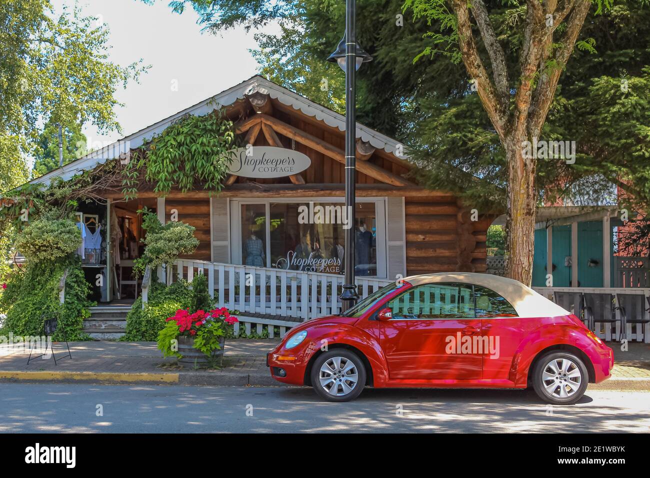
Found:
[[[584,362],[570,352],[550,352],[535,364],[532,384],[539,397],[553,405],[571,405],[587,390],[589,374]]]

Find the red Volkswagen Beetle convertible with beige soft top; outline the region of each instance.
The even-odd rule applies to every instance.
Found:
[[[577,402],[614,352],[573,314],[489,274],[429,274],[378,289],[341,315],[296,326],[266,358],[280,382],[330,401],[364,386],[528,388]]]

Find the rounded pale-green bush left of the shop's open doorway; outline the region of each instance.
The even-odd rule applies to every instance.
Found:
[[[38,219],[16,238],[16,248],[28,261],[51,262],[81,246],[81,232],[71,219]]]

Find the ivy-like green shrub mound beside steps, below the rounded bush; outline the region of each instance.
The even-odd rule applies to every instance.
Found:
[[[66,299],[60,304],[59,282],[66,269]],[[55,262],[30,262],[24,270],[10,274],[5,293],[0,297],[0,309],[6,310],[4,328],[19,336],[40,336],[45,319],[56,318],[53,340],[87,339],[81,330],[93,305],[86,299],[88,293],[90,285],[81,259],[74,254]]]

